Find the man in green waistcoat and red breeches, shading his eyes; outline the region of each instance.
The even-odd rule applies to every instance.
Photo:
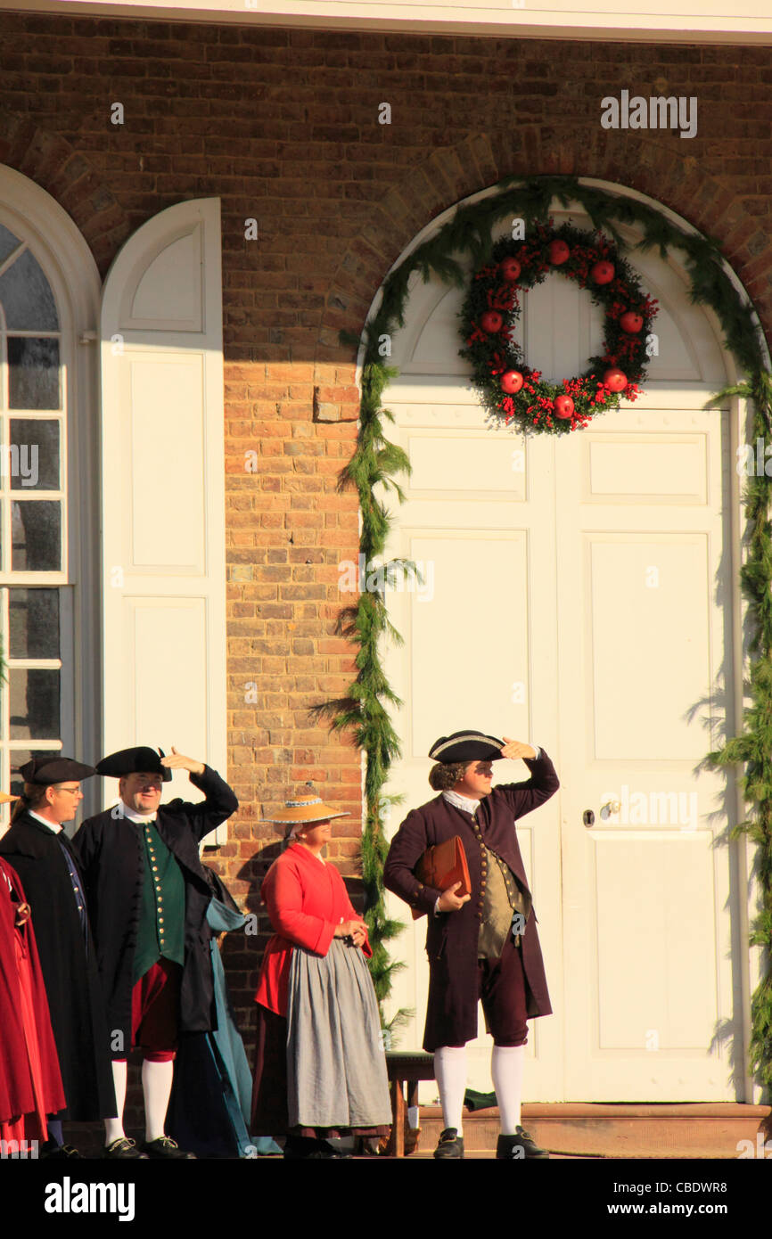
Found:
[[[161,805],[172,769],[186,769],[206,799]],[[165,1132],[178,1033],[217,1027],[206,912],[211,898],[198,844],[238,800],[203,762],[143,746],[104,757],[120,800],[83,823],[73,839],[92,909],[108,1005],[118,1118],[105,1120],[104,1156],[193,1157]],[[143,1053],[145,1141],[126,1139],[126,1059]]]

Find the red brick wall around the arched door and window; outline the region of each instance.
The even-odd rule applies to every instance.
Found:
[[[361,328],[439,212],[507,173],[570,172],[716,237],[770,337],[772,52],[4,14],[0,66],[0,161],[62,203],[103,273],[164,207],[222,199],[228,777],[242,808],[214,864],[257,912],[276,854],[261,818],[312,779],[351,810],[332,851],[353,880],[358,753],[307,717],[353,672],[332,634],[358,528],[353,493],[336,489],[358,404],[338,330]],[[602,129],[601,98],[622,89],[696,95],[698,135]],[[255,944],[224,950],[244,1023]]]

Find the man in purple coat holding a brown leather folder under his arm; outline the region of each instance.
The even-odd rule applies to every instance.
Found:
[[[429,1006],[424,1049],[434,1053],[445,1129],[435,1157],[463,1157],[461,1111],[466,1042],[477,1036],[477,1002],[493,1037],[491,1074],[501,1115],[496,1156],[549,1157],[520,1126],[527,1020],[550,1015],[533,900],[517,841],[515,819],[549,800],[560,783],[555,767],[532,745],[468,729],[442,736],[430,758],[434,800],[413,809],[392,841],[384,882],[426,913]],[[492,762],[522,757],[524,783],[492,788]],[[414,875],[428,847],[458,835],[471,896],[424,886]]]

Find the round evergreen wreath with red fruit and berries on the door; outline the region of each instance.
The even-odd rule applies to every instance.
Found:
[[[590,289],[605,312],[603,349],[587,369],[563,383],[546,383],[524,361],[513,339],[520,316],[518,292],[535,287],[559,271]],[[507,425],[545,434],[581,429],[595,414],[634,400],[646,378],[647,336],[657,302],[643,294],[626,259],[602,233],[580,232],[571,224],[555,229],[543,223],[525,240],[503,238],[492,260],[472,278],[461,311],[458,352],[471,362],[472,383],[488,413]]]

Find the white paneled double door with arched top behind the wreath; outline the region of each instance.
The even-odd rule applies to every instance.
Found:
[[[387,657],[405,703],[392,826],[432,795],[430,743],[461,727],[542,745],[561,781],[518,826],[555,1012],[530,1026],[529,1100],[736,1097],[739,893],[719,840],[734,799],[698,771],[734,700],[730,414],[701,408],[726,369],[683,273],[633,263],[660,302],[634,405],[559,440],[491,427],[457,357],[463,294],[439,281],[413,286],[384,395],[413,463],[388,555],[424,567],[389,595],[405,638]],[[524,302],[529,363],[581,373],[602,336],[589,295],[553,275]],[[409,965],[393,1009],[416,1012],[400,1048],[421,1042],[424,934],[393,949]],[[487,1037],[471,1061],[489,1089]]]

